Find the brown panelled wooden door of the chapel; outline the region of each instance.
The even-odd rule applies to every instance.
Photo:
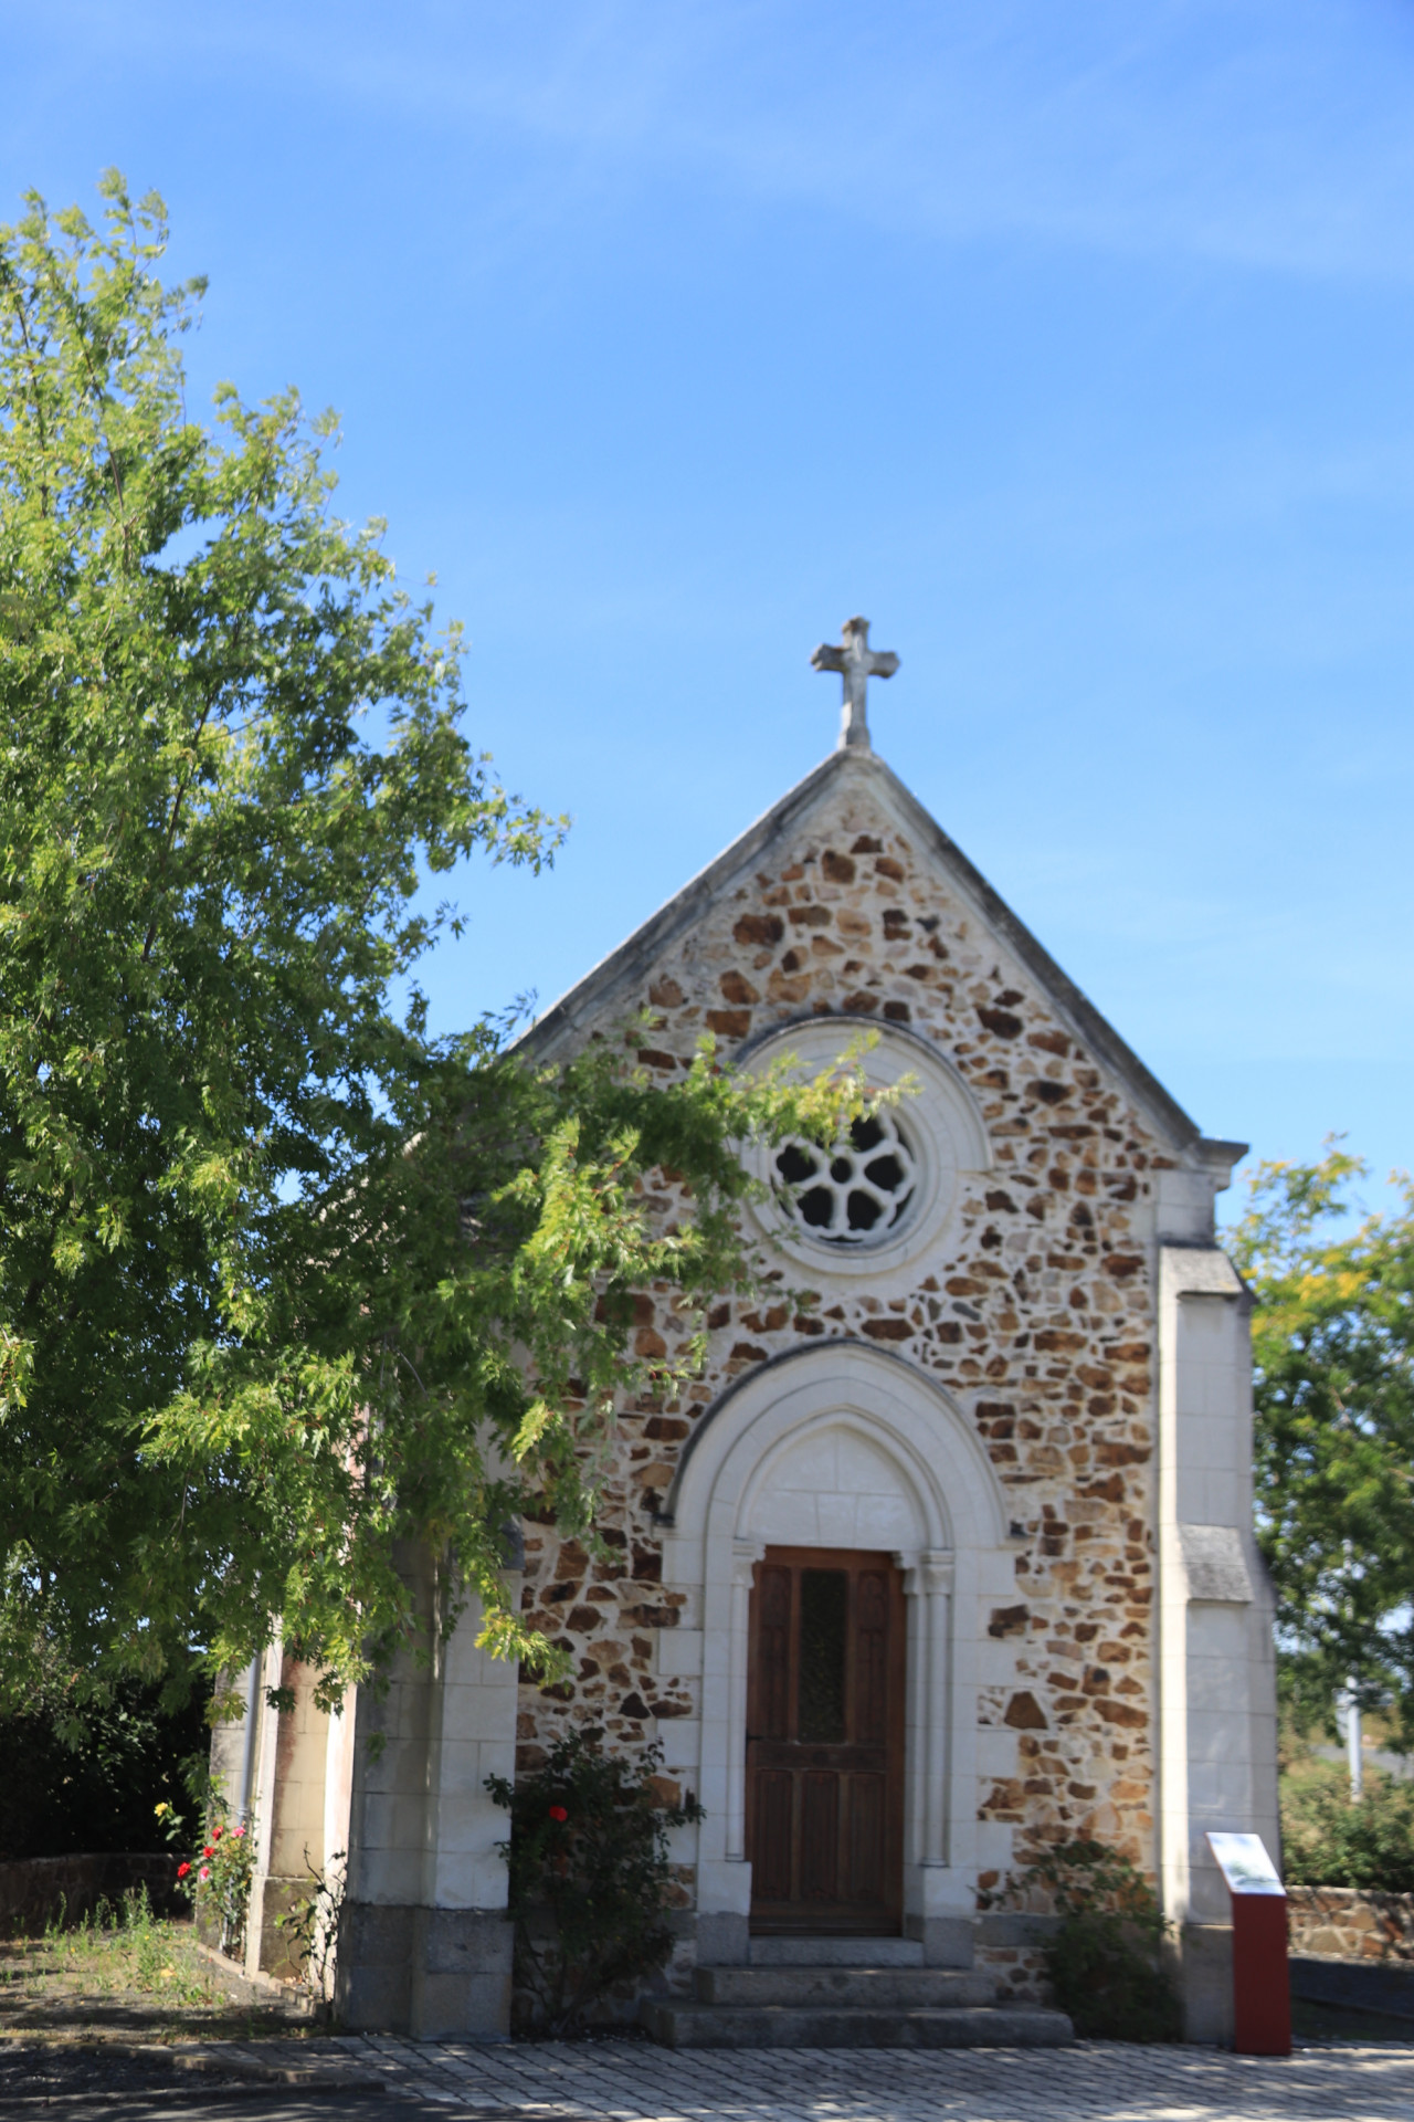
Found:
[[[746,1679],[753,1931],[899,1931],[903,1685],[890,1555],[767,1547]]]

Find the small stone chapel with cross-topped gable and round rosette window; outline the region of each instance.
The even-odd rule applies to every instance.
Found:
[[[640,1061],[670,1080],[704,1029],[738,1067],[818,1069],[867,1025],[871,1078],[914,1091],[831,1156],[763,1165],[753,1235],[782,1292],[816,1294],[723,1301],[697,1384],[623,1411],[615,1562],[524,1528],[522,1611],[572,1640],[568,1689],[483,1657],[475,1617],[335,1719],[278,1649],[250,1674],[214,1744],[257,1823],[250,1965],[280,1965],[307,1859],[348,1853],[352,2027],[507,2037],[485,1776],[587,1723],[659,1740],[706,1808],[676,1836],[664,2039],[723,2039],[712,2012],[782,1965],[801,1999],[812,1967],[914,1967],[914,2003],[996,1997],[1015,2037],[1056,2039],[1007,1884],[1071,1838],[1155,1880],[1189,2037],[1230,2031],[1204,1831],[1278,1853],[1249,1301],[1215,1237],[1244,1146],[1200,1133],[871,749],[867,679],[897,658],[867,624],[814,662],[844,677],[839,747],[526,1046],[555,1059],[651,1010]],[[676,1330],[644,1294],[640,1352]],[[288,1712],[263,1706],[278,1683]],[[854,1993],[829,1995],[837,2020]]]

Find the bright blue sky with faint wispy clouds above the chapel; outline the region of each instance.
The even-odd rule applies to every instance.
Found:
[[[0,212],[102,166],[197,393],[341,507],[570,811],[437,1021],[549,1002],[835,734],[1208,1133],[1414,1163],[1414,6],[0,0]],[[1378,1199],[1372,1188],[1372,1199]]]

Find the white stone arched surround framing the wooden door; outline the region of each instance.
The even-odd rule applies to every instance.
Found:
[[[772,1471],[812,1437],[867,1445],[912,1509],[912,1538],[888,1543],[905,1572],[909,1615],[905,1912],[971,1914],[977,1865],[994,1861],[977,1829],[977,1691],[1011,1672],[1009,1645],[986,1634],[988,1606],[1015,1598],[1005,1494],[948,1394],[859,1341],[801,1350],[744,1379],[704,1417],[674,1490],[664,1583],[702,1600],[704,1625],[697,1908],[750,1908],[746,1613],[753,1568],[774,1538],[761,1530],[759,1507]],[[816,1536],[791,1545],[882,1543]]]

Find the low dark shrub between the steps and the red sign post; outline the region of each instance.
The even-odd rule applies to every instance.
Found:
[[[1083,2041],[1179,2041],[1183,2012],[1164,1963],[1168,1923],[1153,1886],[1104,1842],[1062,1842],[1032,1865],[1060,1927],[1045,1946],[1056,2003]]]

